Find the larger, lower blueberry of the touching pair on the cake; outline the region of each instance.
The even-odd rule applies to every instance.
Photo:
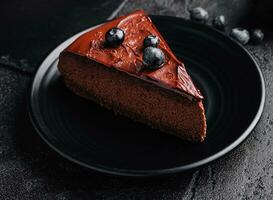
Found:
[[[161,49],[156,47],[146,47],[143,52],[143,64],[146,69],[159,69],[165,63],[165,56]]]

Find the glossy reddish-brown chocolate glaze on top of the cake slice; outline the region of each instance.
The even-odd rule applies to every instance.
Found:
[[[114,27],[121,28],[125,32],[125,40],[119,47],[109,48],[105,45],[105,33]],[[148,35],[159,37],[158,48],[164,52],[166,59],[164,66],[154,71],[143,70],[143,40]],[[174,90],[181,95],[193,97],[196,100],[203,99],[187,74],[184,64],[175,57],[151,19],[142,10],[84,33],[65,51],[86,56],[107,67],[113,67],[129,75]]]

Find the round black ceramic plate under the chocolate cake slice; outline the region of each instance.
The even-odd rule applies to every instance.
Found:
[[[176,173],[230,152],[257,124],[265,100],[264,81],[242,46],[205,25],[165,16],[152,20],[205,96],[205,142],[189,143],[152,130],[68,91],[56,66],[59,53],[78,34],[41,64],[30,96],[33,125],[62,156],[110,174]]]

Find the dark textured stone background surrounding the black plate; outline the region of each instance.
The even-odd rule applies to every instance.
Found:
[[[143,8],[150,14],[188,18],[189,8],[202,6],[211,16],[225,14],[229,28],[264,26],[267,21],[255,0],[124,2],[118,10],[122,1],[117,0],[1,3],[0,199],[272,199],[273,34],[269,32],[261,45],[247,46],[265,77],[265,111],[245,143],[212,165],[160,179],[118,178],[86,171],[41,141],[26,110],[35,69],[57,44],[113,12]]]

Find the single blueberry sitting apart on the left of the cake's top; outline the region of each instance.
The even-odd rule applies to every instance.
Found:
[[[120,28],[111,28],[105,34],[106,44],[110,47],[118,47],[125,39],[125,33]]]

